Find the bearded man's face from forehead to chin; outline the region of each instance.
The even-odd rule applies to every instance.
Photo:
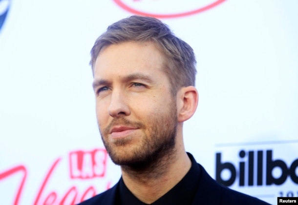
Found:
[[[98,126],[112,161],[150,164],[174,150],[176,99],[152,43],[104,48],[94,66]]]

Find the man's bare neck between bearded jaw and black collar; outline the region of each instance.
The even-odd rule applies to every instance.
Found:
[[[178,148],[179,149],[179,148]],[[183,150],[164,156],[146,170],[122,166],[122,178],[128,189],[140,201],[151,204],[166,194],[187,174],[191,161]]]

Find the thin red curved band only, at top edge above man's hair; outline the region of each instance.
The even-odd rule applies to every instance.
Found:
[[[155,18],[176,18],[176,17],[183,17],[183,16],[189,16],[192,14],[196,14],[196,13],[200,13],[206,10],[209,10],[215,6],[217,6],[218,4],[224,2],[226,0],[216,0],[213,3],[206,5],[204,7],[198,8],[198,9],[194,9],[192,11],[188,11],[188,12],[183,12],[183,13],[176,13],[176,14],[154,14],[154,13],[146,13],[146,12],[142,12],[142,11],[138,11],[134,8],[129,7],[128,5],[126,5],[122,0],[114,0],[115,3],[117,3],[121,8],[133,13],[133,14],[137,14],[137,15],[141,15],[141,16],[150,16],[150,17],[155,17]]]

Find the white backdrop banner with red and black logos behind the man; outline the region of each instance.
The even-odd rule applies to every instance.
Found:
[[[187,151],[218,182],[298,197],[297,0],[0,0],[1,205],[70,205],[113,186],[90,49],[130,15],[161,19],[197,57]]]

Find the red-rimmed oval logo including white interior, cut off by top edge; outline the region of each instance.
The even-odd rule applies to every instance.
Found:
[[[118,6],[132,14],[155,18],[189,16],[212,9],[224,1],[225,0],[114,0]]]

